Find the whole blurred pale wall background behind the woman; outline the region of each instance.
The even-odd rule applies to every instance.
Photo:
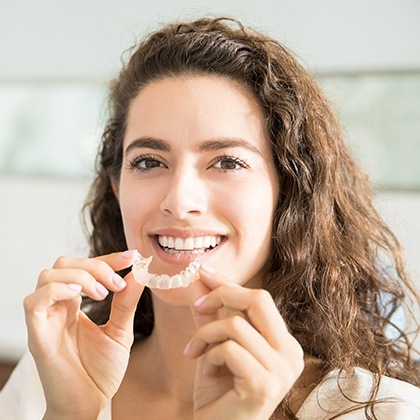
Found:
[[[419,1],[2,0],[3,378],[25,351],[22,300],[38,273],[60,255],[87,253],[80,209],[122,52],[161,23],[203,14],[237,17],[298,54],[339,114],[420,285]]]

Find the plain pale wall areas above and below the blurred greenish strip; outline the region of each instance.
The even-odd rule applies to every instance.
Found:
[[[3,0],[0,83],[106,81],[136,35],[202,13],[267,30],[314,71],[420,69],[417,0]],[[0,357],[16,359],[25,348],[21,302],[39,271],[61,254],[84,254],[78,212],[86,188],[81,180],[0,176]],[[378,206],[419,274],[419,194],[383,194]]]

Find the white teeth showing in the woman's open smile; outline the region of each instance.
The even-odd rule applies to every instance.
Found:
[[[157,236],[159,246],[168,254],[204,254],[216,248],[223,239],[223,236],[213,235],[187,238],[166,235]]]

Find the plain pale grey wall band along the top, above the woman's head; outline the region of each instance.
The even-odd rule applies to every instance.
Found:
[[[229,14],[318,71],[420,68],[418,0],[3,0],[0,80],[107,80],[158,22]]]

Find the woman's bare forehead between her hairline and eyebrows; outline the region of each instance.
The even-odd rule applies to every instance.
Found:
[[[145,136],[183,145],[244,138],[268,151],[263,113],[252,92],[216,76],[168,77],[146,85],[130,105],[125,145]]]

